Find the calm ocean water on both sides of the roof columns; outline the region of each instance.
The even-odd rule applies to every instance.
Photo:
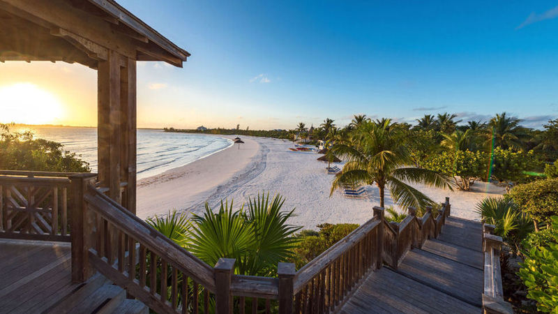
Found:
[[[35,138],[64,145],[81,156],[97,171],[97,128],[25,126],[14,131],[31,130]],[[174,167],[204,158],[233,144],[223,137],[202,134],[169,133],[163,130],[137,130],[137,179],[151,177]]]

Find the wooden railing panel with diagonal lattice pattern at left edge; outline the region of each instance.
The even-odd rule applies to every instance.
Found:
[[[70,241],[68,175],[0,170],[0,237]]]

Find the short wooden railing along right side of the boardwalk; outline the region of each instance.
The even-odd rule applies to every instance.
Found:
[[[504,301],[502,271],[500,269],[500,249],[502,237],[492,234],[494,225],[483,225],[484,252],[484,313],[513,313],[511,304]]]

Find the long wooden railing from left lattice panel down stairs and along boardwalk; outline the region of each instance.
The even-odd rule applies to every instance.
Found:
[[[299,271],[295,271],[294,264],[279,263],[278,278],[242,276],[234,274],[234,260],[223,258],[210,267],[154,230],[110,199],[106,189],[98,188],[96,174],[70,174],[69,178],[63,175],[68,176],[0,172],[2,214],[8,213],[1,219],[1,236],[30,237],[26,233],[29,227],[18,230],[13,227],[21,226],[21,223],[14,224],[13,211],[57,217],[54,227],[52,220],[46,224],[50,225],[50,233],[43,230],[31,235],[32,239],[39,236],[71,239],[73,281],[86,281],[93,272],[99,271],[158,313],[335,311],[370,271],[383,264],[396,269],[411,248],[437,237],[450,207],[446,198],[436,218],[431,209],[423,217],[417,217],[416,211],[409,208],[409,216],[401,223],[388,223],[384,209],[374,207],[372,219]],[[6,193],[8,190],[10,193]],[[14,190],[19,194],[31,193],[31,197],[17,196],[23,197],[25,202],[20,202],[26,206],[17,202],[19,205],[14,209]],[[41,190],[45,191],[39,193]],[[38,207],[37,199],[33,199],[33,195],[40,195],[47,202],[49,195],[56,194],[58,197],[43,207]],[[61,195],[64,200],[60,199]],[[67,199],[71,200],[71,207],[67,206]],[[6,200],[12,205],[6,205]],[[54,209],[59,211],[54,213]],[[11,229],[6,230],[6,220],[10,220]]]

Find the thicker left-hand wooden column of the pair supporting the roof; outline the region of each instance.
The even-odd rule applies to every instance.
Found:
[[[97,72],[98,173],[109,197],[120,203],[121,56],[112,50],[108,54],[107,61],[98,62]]]

